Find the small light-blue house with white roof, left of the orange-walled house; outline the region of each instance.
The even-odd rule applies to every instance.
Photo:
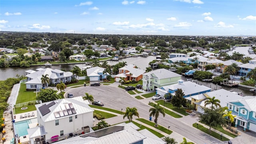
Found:
[[[89,76],[90,81],[100,81],[106,79],[110,74],[108,72],[103,74],[105,69],[106,68],[101,68],[99,66],[87,68],[87,76]]]

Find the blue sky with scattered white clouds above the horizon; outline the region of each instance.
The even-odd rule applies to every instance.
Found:
[[[0,0],[0,31],[256,36],[256,0]]]

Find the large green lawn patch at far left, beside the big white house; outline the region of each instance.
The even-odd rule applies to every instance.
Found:
[[[20,84],[19,94],[16,100],[16,104],[20,104],[23,102],[29,102],[32,100],[36,100],[36,92],[34,91],[26,91],[26,84]]]

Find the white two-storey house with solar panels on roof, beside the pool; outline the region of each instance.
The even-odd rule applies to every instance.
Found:
[[[34,144],[34,138],[42,137],[46,142],[51,143],[92,131],[94,110],[88,106],[88,102],[85,102],[82,96],[54,100],[35,106],[38,126],[44,133],[33,135],[30,138],[32,144]]]

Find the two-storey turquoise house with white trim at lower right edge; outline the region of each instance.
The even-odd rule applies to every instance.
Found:
[[[256,96],[245,96],[239,100],[227,102],[232,111],[235,127],[242,126],[244,130],[256,132]]]

